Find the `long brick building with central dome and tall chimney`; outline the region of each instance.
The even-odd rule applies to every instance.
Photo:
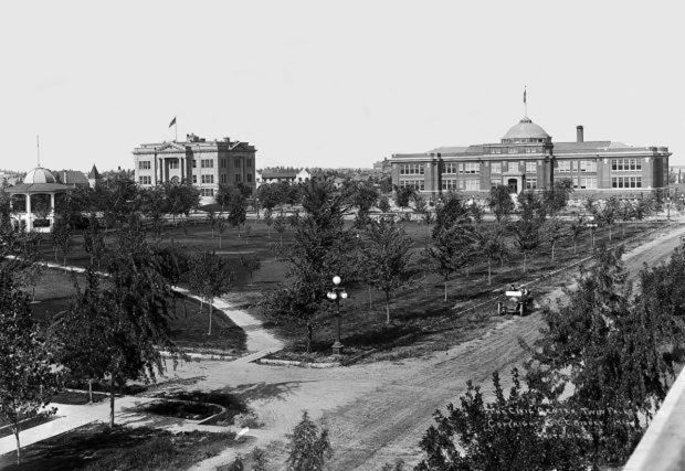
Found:
[[[499,184],[520,193],[562,179],[572,181],[580,197],[637,195],[668,185],[668,148],[586,141],[583,127],[576,130],[575,142],[552,142],[524,117],[496,143],[396,153],[390,159],[392,183],[430,196],[450,190],[485,195]]]

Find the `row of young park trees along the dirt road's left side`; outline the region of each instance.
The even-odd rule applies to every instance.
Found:
[[[333,313],[326,293],[334,276],[346,283],[363,283],[369,290],[382,292],[386,321],[390,323],[393,297],[415,278],[418,266],[422,265],[417,261],[432,263],[431,270],[443,278],[446,301],[452,277],[478,264],[487,266],[491,285],[496,266],[504,266],[517,251],[523,256],[524,272],[530,257],[544,244],[550,247],[552,260],[562,239],[572,239],[576,251],[586,231],[592,231],[594,236],[594,227],[588,227],[588,223],[594,221],[611,231],[618,204],[614,199],[602,206],[590,202],[593,220],[583,215],[563,220],[559,214],[567,207],[572,191],[570,182],[563,181],[544,192],[521,193],[513,217],[515,203],[508,189],[496,186],[488,199],[496,223],[484,224],[483,207],[468,204],[459,193],[444,195],[432,211],[421,205],[425,203],[421,197],[412,196],[419,207],[424,207],[424,222],[432,227],[428,246],[419,250],[401,220],[387,214],[369,216],[378,200],[373,197],[375,189],[367,190],[336,189],[329,181],[301,185],[303,214],[289,217],[293,244],[283,251],[289,270],[282,288],[264,301],[264,311],[276,322],[289,320],[303,325],[308,351],[314,331],[320,327],[318,314]],[[629,214],[629,204],[618,205]],[[630,207],[634,210],[631,220],[643,218],[653,211],[643,202]],[[351,226],[344,222],[349,214],[356,214]]]

